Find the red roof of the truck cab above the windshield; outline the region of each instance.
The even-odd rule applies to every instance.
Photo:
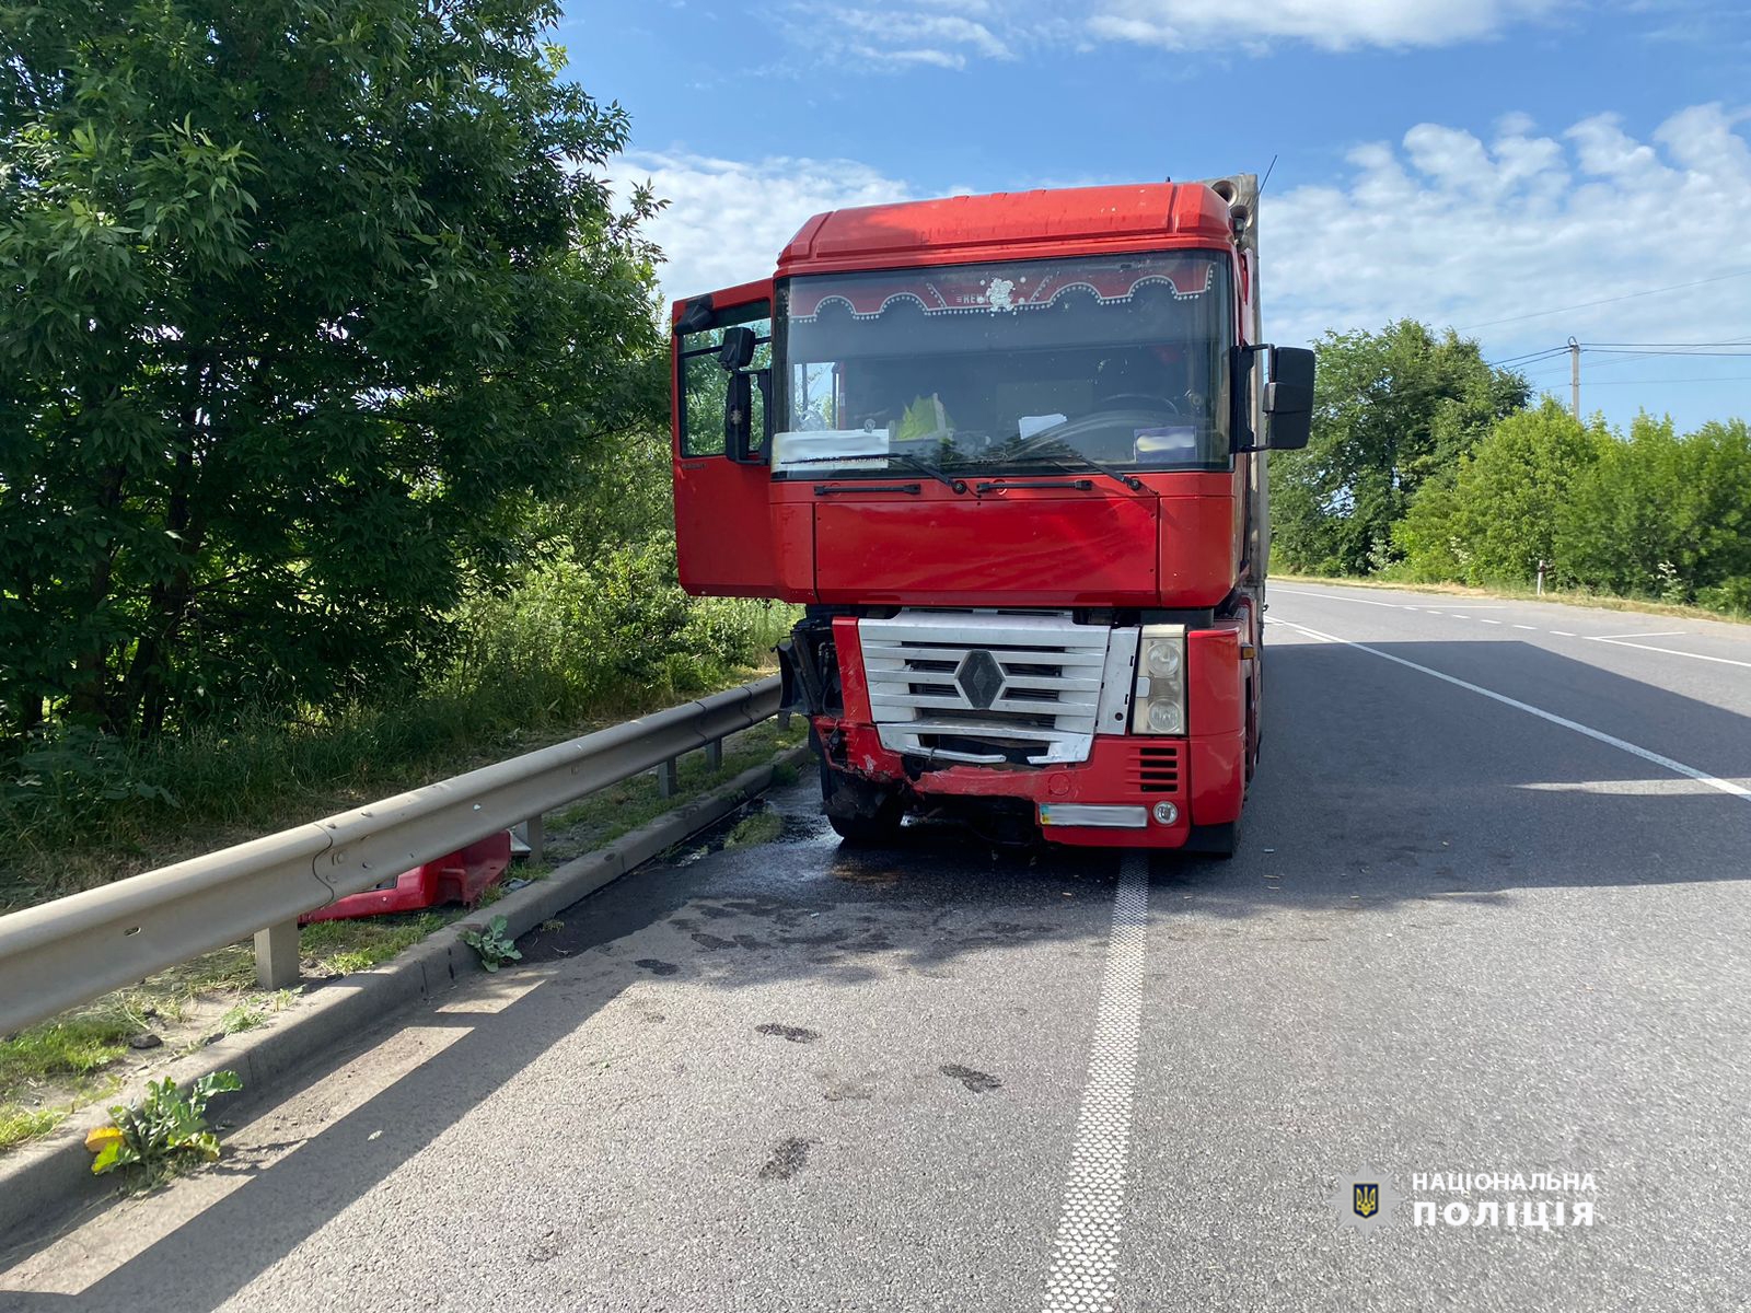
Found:
[[[777,277],[1231,242],[1229,207],[1203,182],[1012,191],[818,214]]]

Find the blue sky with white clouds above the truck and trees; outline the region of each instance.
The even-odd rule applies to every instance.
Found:
[[[1268,336],[1411,315],[1488,359],[1744,340],[1588,352],[1581,404],[1751,417],[1740,0],[602,0],[559,40],[632,116],[616,184],[671,201],[671,296],[770,271],[837,205],[1276,156]],[[1567,368],[1527,371],[1567,397]]]

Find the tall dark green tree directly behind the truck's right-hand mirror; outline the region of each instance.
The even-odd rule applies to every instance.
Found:
[[[1525,378],[1492,369],[1478,343],[1404,319],[1315,343],[1313,438],[1271,460],[1278,564],[1364,574],[1394,558],[1392,525],[1427,478],[1525,406]]]

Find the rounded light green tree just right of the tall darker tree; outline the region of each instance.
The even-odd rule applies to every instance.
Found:
[[[1557,562],[1557,522],[1576,476],[1611,443],[1553,397],[1501,420],[1452,474],[1425,480],[1392,539],[1422,579],[1527,583]]]

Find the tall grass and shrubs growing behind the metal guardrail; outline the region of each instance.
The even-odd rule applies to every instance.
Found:
[[[455,655],[406,688],[124,742],[67,730],[0,762],[0,909],[501,760],[721,688],[795,607],[690,599],[664,541],[531,569],[454,618]]]

